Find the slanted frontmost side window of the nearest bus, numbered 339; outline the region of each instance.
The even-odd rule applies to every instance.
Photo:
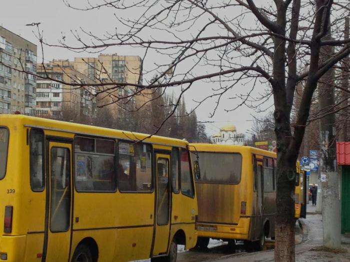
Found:
[[[193,179],[189,165],[187,150],[181,150],[181,192],[183,195],[194,197]]]

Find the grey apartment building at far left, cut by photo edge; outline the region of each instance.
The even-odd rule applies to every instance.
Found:
[[[36,45],[0,26],[0,61],[0,113],[33,115]]]

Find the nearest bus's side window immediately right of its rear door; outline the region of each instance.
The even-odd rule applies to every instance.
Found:
[[[115,191],[114,141],[76,137],[74,146],[76,190]]]

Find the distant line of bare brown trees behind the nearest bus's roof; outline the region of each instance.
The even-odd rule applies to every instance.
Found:
[[[117,109],[111,106],[97,107],[91,117],[63,108],[58,120],[146,134],[156,133],[194,143],[210,142],[204,124],[198,122],[193,110],[186,109],[183,96],[177,102],[174,94],[163,94],[163,89],[159,88],[152,90],[149,97],[144,106],[128,101],[124,107]]]

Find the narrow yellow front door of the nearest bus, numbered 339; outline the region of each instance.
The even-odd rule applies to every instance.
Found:
[[[152,256],[166,255],[170,232],[170,156],[156,154],[156,217]]]

